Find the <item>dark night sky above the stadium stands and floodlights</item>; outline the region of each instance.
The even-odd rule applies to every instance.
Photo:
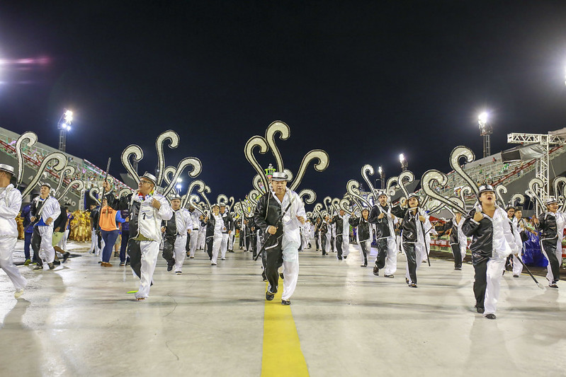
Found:
[[[454,146],[477,157],[477,114],[491,112],[492,151],[508,132],[566,122],[565,1],[13,1],[0,6],[0,126],[57,146],[57,120],[74,110],[67,151],[105,167],[174,129],[174,164],[200,158],[200,179],[243,197],[249,137],[283,120],[285,167],[310,149],[330,166],[300,188],[341,196],[365,163],[420,176],[448,171]],[[26,69],[21,69],[21,68]],[[271,154],[261,163],[274,162]]]

